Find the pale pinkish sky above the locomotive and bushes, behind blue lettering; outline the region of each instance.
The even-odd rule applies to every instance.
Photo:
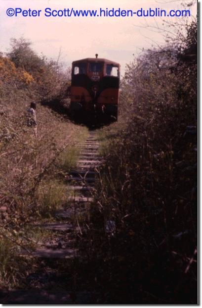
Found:
[[[48,58],[56,59],[59,50],[66,66],[72,61],[94,57],[108,58],[121,64],[124,74],[125,64],[133,60],[142,48],[151,48],[164,39],[159,31],[151,31],[148,26],[162,26],[162,19],[174,21],[171,17],[44,17],[46,7],[51,9],[132,9],[141,7],[165,10],[181,9],[185,0],[0,0],[0,51],[8,51],[10,38],[23,36],[32,41],[33,49]],[[7,8],[41,9],[40,17],[9,17]],[[196,15],[197,5],[191,13]],[[182,18],[182,17],[180,17]],[[180,20],[178,18],[178,21]],[[184,17],[183,20],[191,20]]]

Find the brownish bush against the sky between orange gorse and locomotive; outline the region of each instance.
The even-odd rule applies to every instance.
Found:
[[[70,82],[70,69],[62,69],[58,60],[47,59],[39,56],[31,48],[31,42],[24,38],[11,39],[11,49],[7,57],[12,61],[17,70],[23,70],[31,76],[30,91],[35,92],[35,100],[50,101],[63,98]]]

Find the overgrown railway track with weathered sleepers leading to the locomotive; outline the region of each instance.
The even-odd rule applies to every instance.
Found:
[[[31,253],[21,252],[21,257],[36,259],[40,268],[28,275],[27,290],[11,290],[3,294],[2,304],[92,304],[94,301],[92,292],[77,290],[74,279],[68,280],[68,273],[64,275],[60,269],[68,267],[67,262],[74,267],[75,260],[80,259],[77,242],[78,234],[82,233],[80,217],[86,214],[93,202],[96,172],[102,164],[94,131],[89,131],[87,139],[78,147],[77,168],[67,179],[67,204],[55,212],[54,221],[32,225],[33,228],[49,230],[52,234],[50,240],[38,243]]]

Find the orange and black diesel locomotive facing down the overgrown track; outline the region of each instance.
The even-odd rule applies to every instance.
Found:
[[[84,121],[116,121],[118,117],[120,64],[85,58],[72,63],[70,113]]]

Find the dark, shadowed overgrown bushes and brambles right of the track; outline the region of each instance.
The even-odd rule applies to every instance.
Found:
[[[100,303],[197,303],[196,21],[185,29],[128,64],[120,120],[99,132],[84,249]]]

